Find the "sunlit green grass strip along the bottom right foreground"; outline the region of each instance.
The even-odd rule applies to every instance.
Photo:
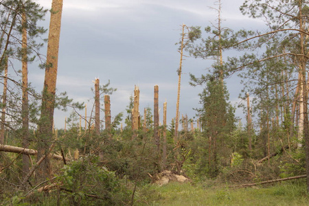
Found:
[[[148,199],[135,205],[309,205],[306,181],[233,189],[207,183],[169,183],[144,188]]]

